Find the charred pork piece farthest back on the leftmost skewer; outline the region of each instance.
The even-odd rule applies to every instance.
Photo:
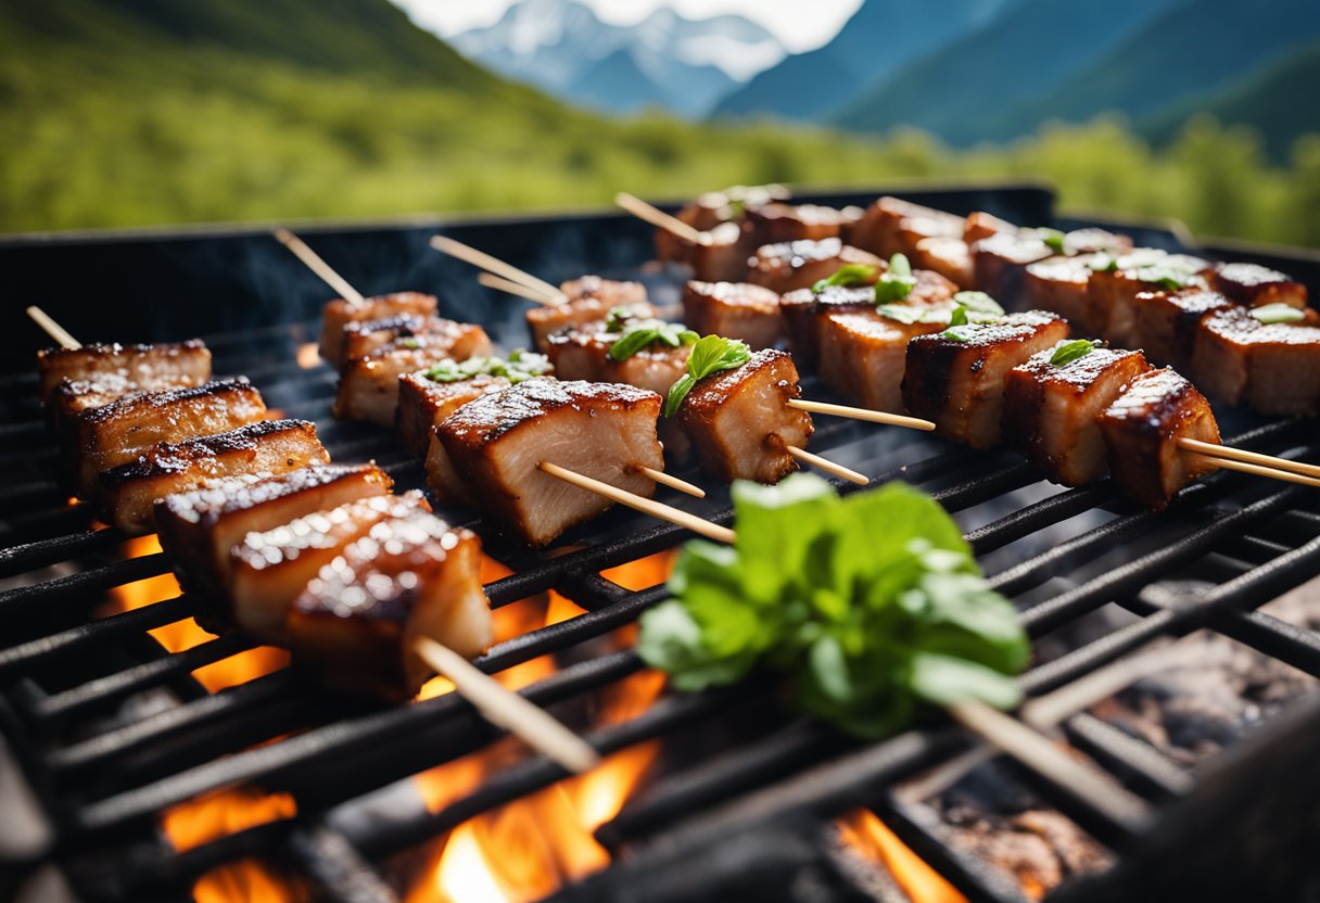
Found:
[[[42,403],[65,380],[117,376],[144,389],[201,385],[211,379],[211,352],[201,339],[46,349],[37,352],[37,375]]]

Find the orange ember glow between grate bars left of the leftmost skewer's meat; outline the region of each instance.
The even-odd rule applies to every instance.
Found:
[[[128,540],[124,557],[139,558],[160,551],[161,545],[154,535],[139,536],[137,539]],[[112,611],[141,609],[154,602],[172,599],[180,591],[178,581],[174,580],[173,574],[161,574],[160,577],[148,577],[147,580],[124,584],[110,591]],[[194,646],[201,646],[207,640],[215,639],[214,634],[202,630],[193,618],[177,620],[149,632],[157,643],[170,652],[182,652],[183,650],[190,650]],[[202,686],[214,693],[226,686],[234,686],[261,675],[268,675],[272,671],[279,671],[288,664],[288,660],[289,656],[284,650],[261,646],[198,668],[193,672],[193,676]]]

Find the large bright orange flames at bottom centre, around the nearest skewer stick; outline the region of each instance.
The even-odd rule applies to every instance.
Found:
[[[653,586],[665,580],[672,560],[669,553],[651,556],[603,576],[630,589]],[[496,636],[519,635],[581,613],[572,601],[549,593],[541,603],[544,615],[536,619],[532,602],[524,599],[496,611]],[[510,614],[502,617],[504,611]],[[614,643],[627,643],[630,636],[628,630],[616,631]],[[532,671],[520,672],[532,664],[537,668],[535,676]],[[540,680],[553,671],[550,656],[543,656],[502,677],[506,685],[520,686],[524,679]],[[664,675],[653,671],[619,681],[602,700],[598,723],[616,723],[645,712],[664,685]],[[418,775],[428,808],[434,812],[465,796],[515,751],[511,745],[496,745]],[[437,844],[407,903],[524,903],[603,869],[610,854],[595,842],[593,832],[618,815],[659,754],[659,742],[620,750],[585,775],[463,822]]]

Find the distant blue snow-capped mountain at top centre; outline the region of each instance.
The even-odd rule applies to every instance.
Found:
[[[611,25],[577,0],[520,0],[498,22],[450,38],[471,59],[550,94],[611,112],[663,106],[697,117],[784,57],[742,16],[690,20],[668,8]]]

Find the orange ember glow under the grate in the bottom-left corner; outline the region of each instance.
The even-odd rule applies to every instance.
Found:
[[[297,811],[293,797],[285,793],[226,791],[176,805],[161,817],[161,826],[170,845],[182,853],[247,828],[292,819]],[[288,882],[252,859],[206,873],[193,887],[193,898],[198,903],[280,903],[297,899]]]

